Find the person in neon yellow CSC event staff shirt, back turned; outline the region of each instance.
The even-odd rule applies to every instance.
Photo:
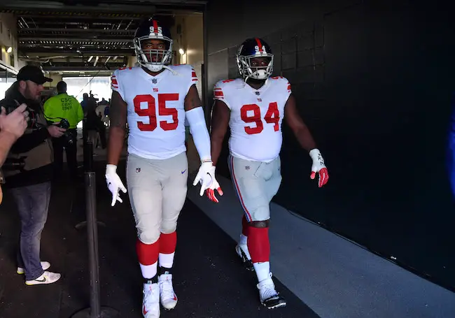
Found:
[[[68,164],[71,179],[77,178],[77,133],[76,126],[83,120],[84,113],[80,103],[73,96],[66,94],[66,82],[57,83],[57,95],[50,97],[44,103],[44,115],[50,122],[68,122],[67,133],[60,138],[52,138],[54,146],[54,165],[56,176],[61,175],[63,168],[63,148],[66,151],[66,163]]]

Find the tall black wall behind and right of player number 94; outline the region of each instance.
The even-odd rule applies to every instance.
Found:
[[[455,87],[448,4],[235,0],[208,9],[209,89],[237,77],[237,45],[264,38],[328,165],[329,184],[318,189],[308,154],[283,124],[274,200],[455,286],[455,275],[437,269],[455,266],[445,169]],[[226,155],[218,170],[228,175]]]

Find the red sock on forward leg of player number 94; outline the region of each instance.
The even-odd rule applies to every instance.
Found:
[[[262,263],[270,260],[269,228],[257,228],[249,226],[248,251],[253,263]]]

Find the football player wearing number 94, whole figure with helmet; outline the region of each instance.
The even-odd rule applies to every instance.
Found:
[[[260,38],[248,38],[237,52],[243,78],[222,80],[214,88],[211,117],[211,157],[218,161],[228,125],[229,168],[244,217],[236,252],[258,276],[260,302],[278,308],[286,301],[276,292],[269,255],[269,203],[281,184],[281,122],[286,118],[300,145],[313,159],[310,178],[319,175],[319,187],[328,181],[321,152],[302,121],[291,94],[290,84],[281,76],[272,77],[273,55]],[[207,196],[215,201],[214,187]]]

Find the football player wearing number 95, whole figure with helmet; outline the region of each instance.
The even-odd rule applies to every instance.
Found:
[[[177,297],[172,286],[176,224],[186,199],[188,161],[185,120],[202,161],[193,185],[200,195],[219,189],[211,162],[210,138],[190,65],[169,66],[172,38],[156,20],[141,24],[134,35],[140,66],[116,70],[109,117],[106,182],[112,203],[127,189],[116,169],[128,124],[127,187],[137,227],[137,256],[144,277],[141,312],[160,317],[160,302],[170,310]],[[221,189],[220,189],[221,191]]]

